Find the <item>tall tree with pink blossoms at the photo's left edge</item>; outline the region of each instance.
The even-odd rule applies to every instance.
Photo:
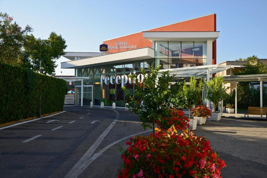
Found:
[[[22,64],[22,46],[26,35],[32,32],[31,26],[22,29],[13,17],[0,12],[0,63],[20,66]]]

